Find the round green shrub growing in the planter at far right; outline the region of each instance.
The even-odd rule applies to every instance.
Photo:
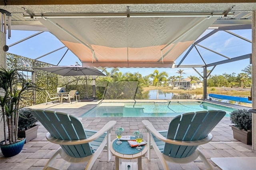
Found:
[[[230,120],[234,126],[240,130],[252,130],[252,113],[246,109],[234,110],[230,113]]]

